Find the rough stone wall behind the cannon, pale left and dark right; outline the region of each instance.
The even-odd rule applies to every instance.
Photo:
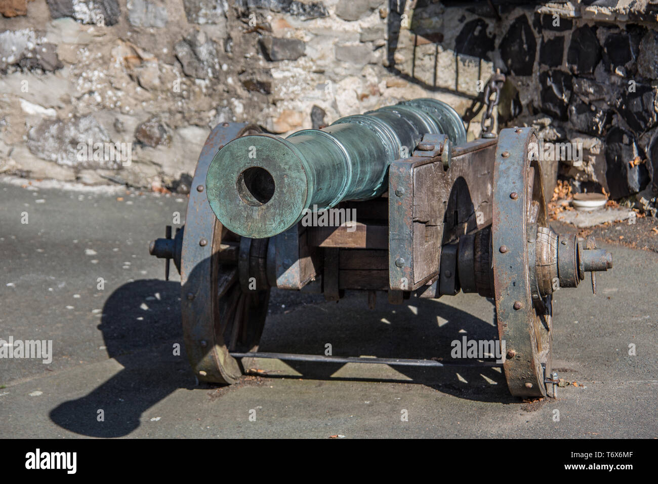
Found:
[[[0,172],[184,191],[219,122],[285,135],[411,97],[474,138],[499,68],[502,125],[582,142],[563,175],[629,196],[658,167],[658,5],[588,3],[0,0]]]

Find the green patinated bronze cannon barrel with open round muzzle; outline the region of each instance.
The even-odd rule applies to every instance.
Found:
[[[426,133],[466,142],[461,118],[436,99],[414,99],[348,116],[321,130],[280,138],[253,134],[220,149],[206,190],[216,217],[249,238],[284,232],[305,209],[368,200],[386,190],[392,161],[408,157]]]

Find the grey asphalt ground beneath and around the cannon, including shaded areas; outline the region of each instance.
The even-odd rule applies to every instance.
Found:
[[[186,196],[35,185],[0,182],[0,338],[52,340],[53,355],[0,358],[2,437],[658,437],[651,250],[599,244],[615,265],[597,296],[588,281],[555,295],[553,361],[576,384],[557,400],[514,398],[491,367],[259,359],[236,385],[199,385],[178,274],[164,281],[147,249],[176,212],[184,223]],[[359,292],[336,304],[275,290],[260,350],[449,358],[453,340],[496,335],[474,294],[391,306],[382,293],[370,310]]]

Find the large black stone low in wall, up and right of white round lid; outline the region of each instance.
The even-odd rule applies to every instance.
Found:
[[[645,163],[633,165],[637,156],[645,159],[644,151],[631,132],[613,126],[605,137],[605,178],[610,196],[619,199],[642,192],[649,184],[649,171]]]

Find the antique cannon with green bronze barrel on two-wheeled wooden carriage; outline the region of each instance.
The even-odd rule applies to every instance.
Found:
[[[532,128],[467,142],[461,117],[414,99],[281,138],[224,122],[196,167],[186,225],[151,242],[180,271],[188,358],[234,383],[245,358],[449,367],[462,361],[258,352],[271,288],[492,298],[511,394],[555,396],[553,293],[612,267],[594,238],[547,223]],[[548,177],[550,178],[550,177]]]

